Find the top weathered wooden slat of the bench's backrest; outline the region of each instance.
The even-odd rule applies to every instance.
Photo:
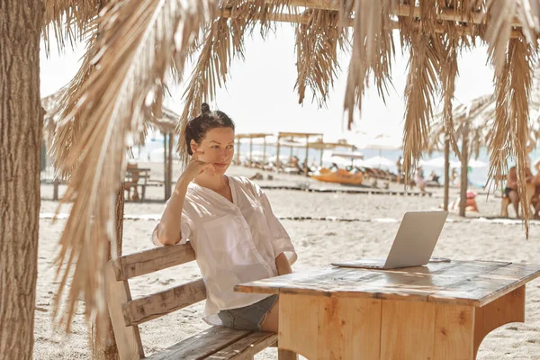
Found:
[[[124,255],[114,260],[116,280],[128,280],[167,267],[189,263],[194,259],[195,253],[189,243],[156,247],[139,253]]]

